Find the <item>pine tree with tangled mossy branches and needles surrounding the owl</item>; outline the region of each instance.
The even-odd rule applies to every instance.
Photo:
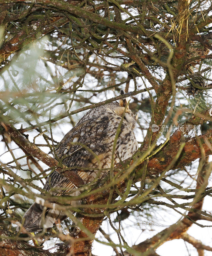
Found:
[[[158,255],[174,239],[212,251],[198,240],[212,220],[211,4],[0,0],[0,255]],[[73,215],[42,189],[64,168],[55,148],[84,111],[124,97],[139,149],[82,188]],[[16,228],[36,197],[69,218],[34,237]]]

